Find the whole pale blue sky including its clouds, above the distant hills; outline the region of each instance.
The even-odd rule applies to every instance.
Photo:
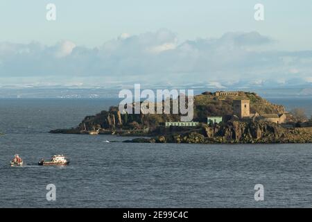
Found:
[[[309,85],[311,61],[311,0],[0,0],[0,86]]]

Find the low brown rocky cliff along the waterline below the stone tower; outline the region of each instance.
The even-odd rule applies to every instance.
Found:
[[[130,141],[128,141],[130,142]],[[258,121],[228,121],[222,126],[201,128],[187,133],[160,135],[131,142],[191,143],[191,144],[253,144],[253,143],[311,143],[311,128],[282,128],[276,123]]]

